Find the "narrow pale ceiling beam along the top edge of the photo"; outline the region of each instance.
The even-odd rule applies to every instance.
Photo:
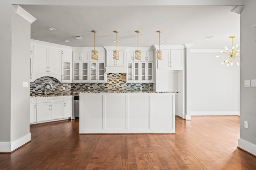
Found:
[[[243,6],[244,0],[12,0],[13,5]]]

